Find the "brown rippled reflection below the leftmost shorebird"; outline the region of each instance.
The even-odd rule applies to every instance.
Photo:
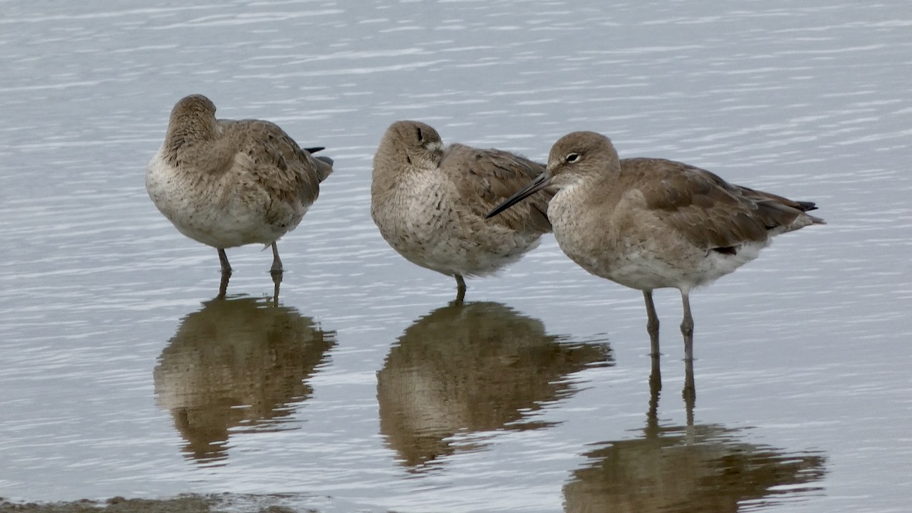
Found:
[[[171,412],[200,463],[227,457],[228,437],[279,431],[312,393],[336,332],[297,310],[254,298],[215,298],[183,319],[159,357],[156,402]]]

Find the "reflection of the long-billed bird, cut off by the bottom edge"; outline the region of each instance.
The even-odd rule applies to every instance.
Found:
[[[748,504],[794,500],[822,489],[824,455],[788,453],[744,440],[743,429],[658,422],[658,386],[650,387],[646,427],[605,442],[564,487],[566,513],[734,513]]]

